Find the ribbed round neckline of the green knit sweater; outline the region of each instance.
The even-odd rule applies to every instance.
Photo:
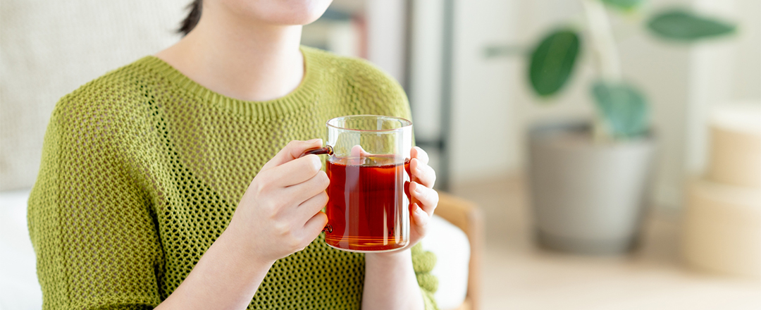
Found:
[[[184,75],[167,62],[164,62],[164,60],[153,55],[145,56],[142,62],[166,78],[170,83],[186,91],[186,93],[197,96],[203,102],[212,104],[215,107],[220,107],[223,110],[246,117],[282,117],[303,107],[304,103],[314,98],[314,94],[319,89],[319,75],[316,72],[317,62],[314,61],[311,53],[304,49],[304,46],[301,46],[299,49],[304,56],[304,78],[301,79],[301,83],[290,93],[269,101],[245,101],[219,94],[193,81],[193,79]]]

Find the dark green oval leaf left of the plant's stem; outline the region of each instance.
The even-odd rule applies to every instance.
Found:
[[[529,80],[540,96],[555,94],[568,81],[578,56],[578,34],[558,30],[545,37],[531,53]]]

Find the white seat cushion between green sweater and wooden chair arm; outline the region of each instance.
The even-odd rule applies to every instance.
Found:
[[[451,310],[465,301],[470,242],[465,232],[440,216],[434,215],[428,225],[428,236],[421,243],[425,251],[436,254],[436,265],[431,270],[438,277],[434,297],[441,310]]]

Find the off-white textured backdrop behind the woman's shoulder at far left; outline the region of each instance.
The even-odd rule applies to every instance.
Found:
[[[177,41],[188,3],[3,0],[0,189],[32,186],[60,97]]]

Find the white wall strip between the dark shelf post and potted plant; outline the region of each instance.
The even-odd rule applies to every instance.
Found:
[[[452,97],[452,182],[493,177],[514,165],[510,133],[511,59],[486,59],[483,48],[514,40],[517,2],[456,0]]]

